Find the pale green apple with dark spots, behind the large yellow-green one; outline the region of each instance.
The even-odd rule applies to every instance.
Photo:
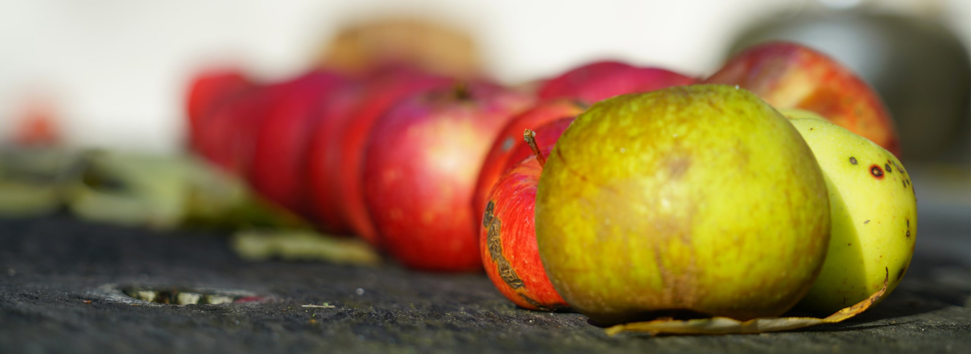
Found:
[[[907,272],[917,240],[910,176],[892,153],[843,127],[819,119],[790,122],[816,154],[832,210],[826,261],[798,307],[833,313],[877,292],[889,276],[886,298]]]

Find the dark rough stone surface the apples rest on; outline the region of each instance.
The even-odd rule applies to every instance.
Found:
[[[612,338],[577,313],[517,308],[483,274],[250,263],[213,234],[64,216],[0,219],[0,352],[966,353],[971,272],[968,250],[954,251],[965,246],[964,227],[928,225],[897,290],[845,323],[762,335]],[[270,300],[161,305],[126,298],[117,290],[123,286],[242,290]],[[335,307],[301,307],[323,303]]]

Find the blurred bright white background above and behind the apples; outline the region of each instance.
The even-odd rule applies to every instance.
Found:
[[[305,70],[341,24],[429,16],[469,30],[489,73],[544,78],[598,58],[715,71],[753,20],[859,0],[0,0],[0,140],[50,103],[68,145],[177,151],[186,80],[214,63],[277,79]],[[971,43],[971,1],[871,0],[936,16]]]

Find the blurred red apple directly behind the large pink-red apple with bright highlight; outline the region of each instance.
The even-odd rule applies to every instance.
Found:
[[[409,96],[454,84],[452,79],[430,76],[411,69],[386,70],[369,80],[358,106],[341,129],[337,148],[340,156],[336,169],[332,170],[337,175],[337,182],[333,185],[337,186],[339,192],[337,200],[341,206],[338,210],[342,213],[342,219],[351,226],[354,235],[379,245],[374,225],[364,205],[364,191],[361,186],[364,150],[375,122],[392,105]]]

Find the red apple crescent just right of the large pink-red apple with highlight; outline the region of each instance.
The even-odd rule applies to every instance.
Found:
[[[521,156],[512,155],[514,146],[525,145],[522,141],[522,131],[525,129],[536,130],[537,127],[550,121],[564,117],[575,117],[580,113],[584,113],[584,111],[586,111],[586,107],[574,100],[550,100],[542,102],[526,112],[520,113],[502,128],[502,131],[489,148],[488,154],[485,155],[485,162],[476,182],[476,194],[472,198],[473,209],[477,218],[476,225],[482,222],[485,204],[488,201],[487,197],[489,191],[492,189],[492,184],[506,173],[509,163],[518,163],[532,153],[527,148],[526,153]],[[537,137],[542,139],[544,136]],[[555,139],[552,142],[555,142]]]

